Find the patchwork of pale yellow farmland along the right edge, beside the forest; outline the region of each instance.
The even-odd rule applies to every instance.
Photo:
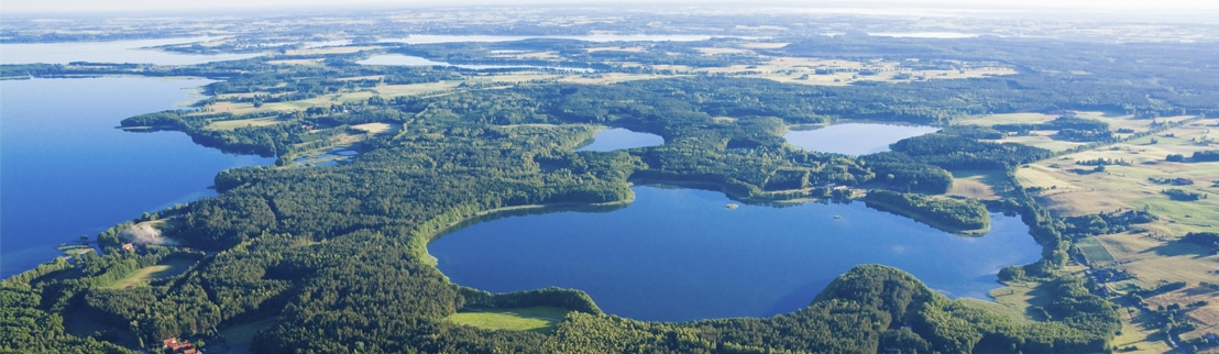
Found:
[[[1154,128],[1152,122],[1175,123],[1192,118],[1134,119],[1129,116],[1106,116],[1100,112],[1081,112],[1076,116],[1107,122],[1114,131],[1130,129],[1134,133],[1150,131]],[[992,114],[965,119],[962,123],[995,125],[1039,123],[1053,118],[1056,117],[1036,113]],[[1013,136],[1003,141],[1058,151],[1076,145],[1050,140],[1046,135],[1052,131],[1041,133],[1037,134],[1040,136]],[[1124,135],[1118,134],[1118,136]],[[1165,157],[1171,153],[1189,157],[1196,151],[1219,150],[1219,145],[1208,142],[1213,139],[1219,139],[1219,119],[1197,119],[1128,142],[1031,163],[1015,172],[1020,186],[1043,189],[1037,195],[1040,202],[1059,215],[1096,214],[1118,209],[1146,209],[1158,215],[1160,220],[1137,225],[1139,229],[1135,231],[1098,236],[1096,238],[1098,245],[1092,245],[1096,248],[1092,249],[1093,253],[1107,251],[1113,260],[1095,265],[1125,269],[1135,276],[1134,280],[1112,283],[1111,288],[1117,291],[1129,291],[1125,283],[1147,287],[1160,281],[1185,281],[1187,286],[1184,290],[1147,299],[1152,309],[1174,303],[1182,307],[1201,300],[1209,303],[1187,310],[1186,316],[1198,325],[1198,328],[1182,335],[1185,339],[1219,328],[1217,327],[1219,291],[1198,286],[1203,281],[1219,282],[1219,276],[1214,272],[1219,270],[1219,255],[1193,245],[1175,242],[1176,237],[1186,232],[1219,229],[1219,187],[1212,186],[1212,182],[1219,181],[1219,163],[1176,163],[1167,162]],[[1103,172],[1093,173],[1091,172],[1093,167],[1076,164],[1078,161],[1097,158],[1123,161],[1125,165],[1111,164]],[[1193,184],[1171,185],[1150,180],[1176,178],[1190,179]],[[963,189],[969,186],[968,182],[962,185]],[[1203,193],[1207,198],[1173,201],[1160,193],[1165,189],[1182,189]],[[961,193],[970,192],[967,190]],[[1165,353],[1170,349],[1158,335],[1158,325],[1145,326],[1147,319],[1141,311],[1134,308],[1123,308],[1120,311],[1123,333],[1114,341],[1118,348],[1134,345],[1140,353]]]

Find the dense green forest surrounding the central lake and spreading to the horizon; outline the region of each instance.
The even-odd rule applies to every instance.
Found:
[[[588,49],[574,40],[502,44],[383,45],[369,52],[324,56],[318,66],[284,67],[271,56],[197,66],[23,64],[0,66],[2,77],[90,74],[193,75],[216,79],[208,95],[232,102],[271,103],[354,92],[378,84],[461,80],[471,71],[436,67],[361,66],[371,52],[497,64],[591,67],[636,73],[634,61],[696,68],[756,63],[756,56],[708,57],[695,46],[731,39],[662,44],[649,55]],[[616,84],[533,82],[436,95],[336,102],[294,112],[249,116],[166,111],[128,118],[130,129],[180,130],[228,152],[278,157],[272,167],[230,169],[215,178],[218,196],[134,221],[163,221],[180,247],[119,251],[112,229],[99,236],[104,255],[87,253],[4,280],[0,352],[128,353],[156,348],[162,338],[219,338],[235,325],[271,320],[252,342],[260,353],[1096,353],[1109,349],[1118,314],[1059,268],[1072,240],[1112,232],[1153,215],[1130,212],[1056,218],[1014,189],[995,202],[1019,213],[1043,259],[1003,269],[1006,280],[1043,283],[1047,300],[1030,311],[1045,321],[1007,318],[951,300],[900,270],[861,265],[836,279],[808,307],[768,319],[646,322],[603,314],[579,290],[547,288],[491,294],[456,286],[427,255],[438,232],[492,209],[534,204],[594,204],[633,198],[630,186],[667,182],[723,191],[744,202],[830,197],[828,186],[875,187],[869,202],[900,206],[962,230],[985,229],[976,201],[937,195],[952,186],[950,172],[1006,173],[1045,159],[1043,148],[985,141],[1039,127],[959,128],[972,114],[1100,109],[1157,117],[1219,113],[1219,86],[1193,78],[1209,56],[1165,58],[1158,44],[1078,44],[978,38],[939,45],[918,39],[857,35],[802,38],[761,54],[833,58],[908,56],[998,61],[1018,75],[845,86],[785,84],[761,78],[681,74]],[[1028,50],[1011,50],[1013,44]],[[625,45],[623,45],[625,46]],[[490,58],[492,51],[549,49],[557,60]],[[664,54],[664,55],[658,55]],[[1106,54],[1096,56],[1093,54]],[[1109,60],[1117,57],[1118,60]],[[1213,57],[1210,57],[1213,60]],[[1129,71],[1154,62],[1160,80]],[[1086,67],[1092,75],[1062,73]],[[1142,71],[1146,73],[1147,71]],[[1199,74],[1201,72],[1201,74]],[[379,77],[379,79],[344,79]],[[1173,85],[1171,90],[1164,85]],[[216,102],[221,99],[207,99]],[[278,124],[230,130],[216,122],[269,118]],[[911,137],[892,151],[850,157],[787,145],[789,127],[868,118],[945,127]],[[369,135],[350,163],[294,165],[305,151],[352,125],[388,123],[394,134]],[[1108,139],[1103,123],[1059,118],[1067,140]],[[306,128],[307,127],[307,128]],[[664,137],[653,147],[575,152],[606,127]],[[1213,152],[1195,153],[1206,161]],[[1213,243],[1213,235],[1190,236]],[[1197,241],[1193,241],[1197,240]],[[190,263],[182,274],[132,288],[116,281],[138,269]],[[466,307],[551,305],[570,309],[553,335],[489,331],[445,320]],[[66,324],[99,322],[91,333]],[[218,339],[223,341],[223,339]],[[215,342],[215,341],[213,341]]]

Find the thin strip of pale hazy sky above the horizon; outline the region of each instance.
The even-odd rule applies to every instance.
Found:
[[[934,1],[934,0],[933,0]],[[887,1],[807,1],[807,0],[762,0],[762,1],[729,1],[729,0],[618,0],[618,1],[596,1],[600,4],[680,4],[680,5],[700,5],[700,4],[714,4],[714,5],[731,5],[731,4],[774,4],[780,6],[818,6],[833,4],[834,7],[856,6],[862,4],[890,4],[908,7],[919,7],[929,1],[925,0],[887,0]],[[460,6],[460,5],[519,5],[519,4],[556,4],[556,5],[573,5],[573,4],[596,4],[590,1],[557,1],[557,0],[512,0],[512,1],[491,1],[491,0],[458,0],[458,1],[444,1],[444,0],[177,0],[177,1],[165,1],[165,0],[119,0],[119,1],[96,1],[96,0],[0,0],[0,15],[2,13],[26,13],[26,12],[143,12],[143,11],[174,11],[174,10],[247,10],[247,9],[297,9],[307,10],[310,7],[352,7],[352,6],[378,6],[378,7],[394,7],[394,6]],[[980,6],[998,6],[1007,9],[1028,9],[1028,7],[1070,7],[1070,9],[1096,9],[1096,10],[1219,10],[1219,1],[1207,1],[1207,0],[940,0],[934,1],[940,4],[947,4],[952,6],[965,6],[965,7],[980,7]],[[336,5],[341,4],[341,5]],[[847,5],[850,4],[850,5]],[[863,6],[859,6],[863,7]]]

